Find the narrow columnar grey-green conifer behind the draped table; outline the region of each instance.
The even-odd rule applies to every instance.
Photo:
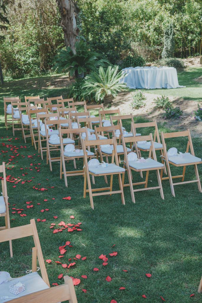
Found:
[[[172,58],[174,56],[175,34],[174,24],[170,22],[164,29],[164,48],[162,58]]]

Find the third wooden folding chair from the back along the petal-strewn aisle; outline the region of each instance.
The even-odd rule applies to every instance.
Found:
[[[25,104],[25,102],[24,102]],[[24,105],[23,104],[23,105]],[[26,103],[28,105],[28,103]],[[31,128],[34,127],[33,123],[30,119],[30,116],[28,115],[28,110],[35,110],[37,109],[36,106],[23,106],[18,105],[18,110],[20,114],[20,121],[21,121],[21,127],[22,127],[22,138],[24,139],[26,143],[26,138],[31,138],[31,144],[33,145],[33,137],[31,134]],[[24,112],[24,114],[23,114]],[[25,120],[25,117],[28,117],[28,120]],[[28,131],[29,134],[25,135],[25,131]]]

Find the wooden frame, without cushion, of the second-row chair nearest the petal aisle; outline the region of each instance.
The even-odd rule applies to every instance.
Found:
[[[69,119],[69,125],[71,127],[71,120]],[[64,175],[64,178],[65,178],[65,186],[68,187],[68,182],[67,182],[67,177],[70,177],[70,176],[79,176],[79,175],[84,175],[84,169],[82,170],[77,170],[77,171],[67,171],[66,170],[66,167],[65,167],[65,161],[69,161],[69,160],[73,160],[74,161],[74,168],[76,169],[76,162],[75,162],[75,159],[79,159],[79,158],[83,158],[84,159],[84,156],[81,156],[81,155],[76,155],[74,157],[67,157],[64,155],[64,144],[63,144],[63,141],[62,141],[62,136],[64,134],[66,134],[67,136],[70,136],[70,138],[72,140],[75,140],[73,135],[78,135],[80,136],[81,138],[81,134],[82,133],[86,133],[86,138],[88,138],[88,131],[87,131],[87,127],[85,128],[75,128],[75,129],[72,129],[72,128],[66,128],[66,129],[61,129],[59,128],[59,137],[60,137],[60,148],[61,148],[61,158],[60,158],[60,179],[62,179],[62,175]],[[82,140],[82,139],[81,139]],[[88,150],[90,151],[90,149],[88,148]],[[88,156],[88,158],[93,158],[94,156]],[[63,171],[62,171],[63,169]]]

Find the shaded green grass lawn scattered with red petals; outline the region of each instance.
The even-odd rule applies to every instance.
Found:
[[[179,82],[181,85],[188,85],[188,80],[186,83],[185,80],[182,81],[181,77],[187,79],[186,74],[183,73],[185,72],[180,73]],[[194,75],[197,77],[196,74]],[[42,78],[44,81],[45,77]],[[46,77],[45,81],[48,79]],[[173,198],[169,181],[163,181],[165,200],[161,199],[158,190],[143,191],[136,193],[135,204],[131,202],[129,188],[125,188],[125,206],[121,204],[120,195],[98,196],[94,198],[93,211],[88,195],[86,199],[83,198],[81,176],[69,178],[66,188],[64,179],[59,178],[58,162],[53,163],[53,171],[50,172],[46,161],[38,157],[38,152],[31,146],[29,139],[27,144],[24,144],[20,132],[16,132],[15,138],[19,139],[15,140],[11,129],[5,131],[3,95],[56,96],[65,95],[66,92],[66,88],[35,89],[31,87],[35,78],[23,81],[24,86],[22,82],[19,85],[18,81],[6,82],[0,94],[0,162],[8,163],[8,159],[13,155],[10,150],[11,145],[19,147],[19,156],[13,158],[7,165],[11,170],[7,170],[6,173],[15,178],[19,177],[22,181],[32,181],[24,184],[19,182],[15,188],[13,183],[7,182],[10,208],[22,208],[22,213],[27,215],[21,217],[19,214],[10,213],[11,227],[28,224],[31,218],[46,219],[46,222],[36,224],[44,259],[52,260],[50,264],[46,263],[50,283],[62,284],[63,281],[58,279],[61,273],[80,278],[81,283],[75,286],[79,303],[110,303],[112,299],[118,303],[144,301],[156,303],[162,302],[160,296],[170,303],[201,302],[202,295],[197,293],[197,289],[202,275],[202,195],[198,192],[197,185],[175,187],[176,197]],[[192,80],[190,83],[194,85]],[[195,85],[195,88],[193,86],[186,88],[187,93],[184,94],[187,94],[188,98],[191,97],[191,91],[196,94],[196,98],[201,98],[200,94],[197,97],[197,84]],[[182,90],[169,90],[169,94]],[[141,121],[139,118],[138,122]],[[127,124],[124,126],[129,127]],[[159,125],[159,131],[168,131],[168,129]],[[144,135],[145,131],[141,130],[141,133]],[[10,138],[12,140],[8,141]],[[26,148],[20,148],[21,145]],[[194,138],[193,145],[195,155],[201,157],[201,138]],[[184,152],[186,140],[168,140],[167,147],[172,146]],[[32,158],[28,158],[28,155],[32,155]],[[157,153],[158,160],[160,160],[159,156]],[[78,168],[79,166],[82,166],[81,162],[78,163]],[[38,169],[35,167],[40,168],[40,171],[37,172]],[[180,169],[172,171],[177,174]],[[199,175],[201,178],[202,165],[199,166]],[[185,179],[194,178],[194,169],[187,168]],[[139,174],[134,174],[134,180],[141,180]],[[114,189],[117,189],[118,179],[114,178],[114,181]],[[156,186],[156,184],[156,175],[151,173],[149,185]],[[104,185],[103,178],[96,178],[97,185]],[[48,190],[38,191],[33,189],[33,186]],[[52,186],[54,188],[51,188]],[[71,200],[62,199],[67,196],[71,196]],[[44,201],[46,199],[48,201]],[[31,201],[33,208],[27,209],[26,201]],[[46,208],[49,211],[40,212],[41,209]],[[74,215],[75,219],[70,219],[71,215]],[[53,216],[58,218],[54,219]],[[53,229],[49,228],[51,223],[55,223],[57,228],[60,221],[65,221],[66,224],[82,222],[82,231],[64,230],[53,234]],[[0,224],[3,223],[1,219]],[[64,258],[60,259],[58,247],[64,245],[66,241],[71,241],[72,247],[68,247]],[[28,238],[15,240],[12,243],[14,253],[12,259],[9,255],[8,243],[0,245],[0,270],[8,271],[12,277],[18,277],[31,269],[33,243]],[[112,247],[114,244],[115,246]],[[108,254],[113,251],[117,251],[118,255],[110,257]],[[86,260],[68,261],[77,254],[86,256]],[[107,266],[103,266],[102,260],[98,258],[101,254],[108,257]],[[75,261],[76,265],[65,269],[55,261],[61,261],[63,264]],[[95,267],[99,268],[99,271],[93,271]],[[147,278],[146,273],[151,273],[151,278]],[[81,278],[81,275],[87,275],[88,279]],[[105,281],[108,275],[112,278],[111,282]],[[120,291],[120,287],[126,289]],[[87,293],[85,294],[82,289],[87,289]],[[143,294],[147,299],[142,298]],[[194,297],[190,298],[191,294],[195,294]]]

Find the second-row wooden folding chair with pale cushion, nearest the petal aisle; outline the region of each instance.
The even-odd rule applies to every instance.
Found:
[[[71,120],[69,119],[69,125],[71,125]],[[76,162],[75,159],[84,158],[84,152],[83,149],[75,149],[73,151],[65,151],[64,144],[63,144],[63,135],[70,136],[71,140],[74,140],[73,135],[78,134],[80,137],[81,135],[85,133],[86,138],[88,138],[88,131],[87,127],[85,128],[68,128],[68,129],[61,129],[59,128],[59,137],[60,137],[60,147],[61,147],[61,158],[60,158],[60,178],[62,179],[62,175],[64,175],[65,178],[65,186],[68,187],[67,183],[67,177],[70,176],[78,176],[78,175],[84,175],[84,169],[81,170],[75,170],[75,171],[67,171],[65,167],[65,161],[73,160],[74,162],[74,168],[76,169]],[[81,139],[81,138],[80,138]],[[86,151],[86,150],[85,150]],[[90,148],[86,151],[88,155],[86,157],[93,158],[94,153],[90,151]],[[63,169],[63,171],[62,171]]]

